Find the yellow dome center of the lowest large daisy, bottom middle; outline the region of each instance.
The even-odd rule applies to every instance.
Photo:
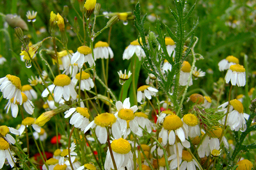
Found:
[[[116,153],[126,154],[131,151],[131,144],[127,140],[119,138],[113,140],[111,143],[111,148]]]

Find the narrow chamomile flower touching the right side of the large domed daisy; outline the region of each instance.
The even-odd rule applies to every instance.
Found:
[[[201,134],[201,130],[198,125],[198,118],[194,114],[185,114],[181,120],[184,122],[184,127],[188,129],[189,137],[194,138]]]

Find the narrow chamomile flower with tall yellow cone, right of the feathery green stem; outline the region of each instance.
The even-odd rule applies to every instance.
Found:
[[[180,69],[180,79],[179,79],[180,85],[186,86],[188,81],[189,81],[189,86],[193,84],[192,77],[189,80],[190,71],[191,71],[191,65],[189,64],[189,62],[184,61]]]

